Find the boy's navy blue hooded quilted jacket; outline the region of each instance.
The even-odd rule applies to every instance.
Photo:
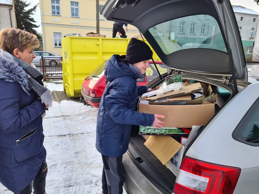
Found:
[[[100,102],[97,126],[96,149],[110,157],[123,155],[129,146],[132,125],[152,125],[154,114],[136,111],[137,97],[147,92],[147,87],[137,86],[136,74],[113,55],[105,65],[105,78],[108,81]]]

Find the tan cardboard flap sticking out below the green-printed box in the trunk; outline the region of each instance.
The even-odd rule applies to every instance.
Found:
[[[178,141],[170,136],[150,136],[144,145],[147,146],[163,165],[182,147]]]

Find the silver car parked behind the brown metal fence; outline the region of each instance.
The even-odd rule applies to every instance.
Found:
[[[33,59],[33,64],[36,66],[40,65],[41,56],[46,59],[44,62],[47,66],[60,66],[62,65],[61,61],[63,59],[62,56],[59,56],[54,53],[46,52],[46,51],[34,51],[36,58]]]

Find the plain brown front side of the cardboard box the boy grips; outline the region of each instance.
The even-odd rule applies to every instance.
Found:
[[[199,105],[138,105],[140,113],[162,114],[165,127],[192,128],[205,125],[215,114],[215,104]]]

